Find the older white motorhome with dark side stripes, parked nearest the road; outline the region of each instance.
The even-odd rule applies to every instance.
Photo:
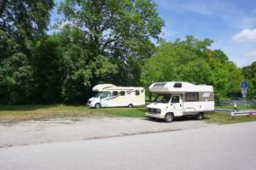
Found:
[[[175,116],[195,116],[201,119],[214,111],[212,86],[195,85],[190,82],[155,82],[149,91],[156,94],[154,103],[147,105],[148,117],[172,122]]]

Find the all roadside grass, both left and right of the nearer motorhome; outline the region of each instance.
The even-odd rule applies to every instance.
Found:
[[[216,108],[233,109],[231,105],[217,106]],[[251,106],[247,109],[256,110],[256,106]],[[143,118],[144,112],[144,107],[102,108],[96,110],[84,105],[0,105],[0,122],[19,122],[27,120],[80,116],[125,116]],[[231,117],[225,113],[219,112],[206,114],[204,121],[217,124],[253,122],[256,121],[256,116]]]

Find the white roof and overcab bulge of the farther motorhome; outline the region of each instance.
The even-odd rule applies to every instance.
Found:
[[[118,87],[113,84],[98,84],[94,88],[92,88],[92,91],[96,92],[104,92],[104,91],[113,91],[113,90],[143,90],[142,87]]]

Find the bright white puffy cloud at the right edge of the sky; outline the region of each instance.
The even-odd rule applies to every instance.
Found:
[[[256,29],[245,29],[233,37],[236,42],[256,41]]]

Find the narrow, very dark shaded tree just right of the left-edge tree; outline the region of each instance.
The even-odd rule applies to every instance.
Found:
[[[60,103],[61,87],[65,77],[63,57],[58,50],[61,39],[51,35],[36,42],[33,49],[34,71],[32,99],[35,103]]]

